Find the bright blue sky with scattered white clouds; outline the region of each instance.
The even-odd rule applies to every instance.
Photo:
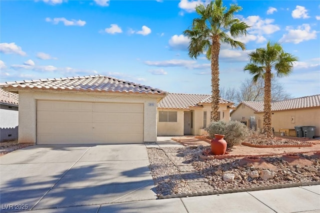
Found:
[[[202,0],[1,0],[0,81],[101,74],[169,92],[210,93],[210,61],[182,35]],[[299,58],[279,78],[294,97],[320,93],[320,3],[238,0],[246,50],[222,44],[220,87],[238,87],[247,54],[279,41]]]

